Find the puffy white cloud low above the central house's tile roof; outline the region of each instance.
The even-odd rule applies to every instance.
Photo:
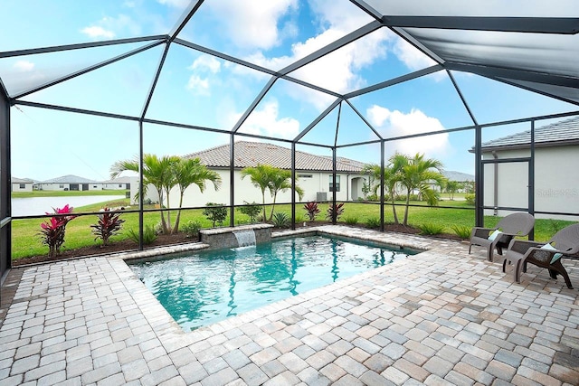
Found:
[[[272,99],[266,102],[261,109],[256,109],[243,123],[242,133],[269,136],[274,138],[293,138],[299,133],[299,121],[294,118],[279,118],[280,108],[278,101]],[[242,114],[235,114],[232,122],[237,122]]]

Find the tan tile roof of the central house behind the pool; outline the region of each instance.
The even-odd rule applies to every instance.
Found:
[[[235,167],[272,165],[280,169],[291,169],[291,149],[288,147],[266,144],[262,142],[235,142]],[[199,157],[207,167],[229,167],[229,144],[212,147],[200,152],[185,155],[186,158]],[[359,173],[364,163],[352,159],[337,157],[338,172]],[[296,170],[300,171],[331,171],[330,156],[312,155],[296,150]]]

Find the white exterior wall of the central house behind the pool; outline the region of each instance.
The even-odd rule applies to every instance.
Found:
[[[189,186],[185,190],[185,195],[183,198],[183,207],[199,207],[204,206],[207,202],[223,203],[224,205],[229,205],[230,197],[230,178],[229,170],[215,170],[221,178],[222,184],[218,191],[214,190],[213,184],[207,184],[204,193],[201,193],[197,185]],[[234,199],[235,205],[242,205],[245,202],[262,202],[261,190],[258,187],[253,186],[250,177],[245,177],[242,179],[241,171],[235,170],[235,191]],[[327,172],[298,172],[299,177],[298,185],[304,191],[304,196],[302,201],[318,201],[318,193],[326,193],[327,201],[332,200],[332,192],[329,192],[329,182],[331,181],[331,175]],[[307,175],[307,176],[306,176]],[[311,175],[311,177],[309,177]],[[361,178],[364,178],[361,174],[337,174],[339,175],[339,192],[337,192],[337,201],[352,201],[353,194],[355,199],[362,196],[362,183]],[[357,179],[356,179],[357,178]],[[352,180],[356,179],[355,183]],[[354,192],[353,192],[354,189]],[[135,197],[138,192],[138,183],[131,184],[131,199]],[[157,191],[150,187],[147,189],[146,199],[152,202],[158,202]],[[296,194],[296,201],[299,201],[299,196]],[[271,203],[273,199],[269,190],[265,192],[265,202]],[[291,202],[291,193],[288,191],[278,193],[276,202]],[[135,202],[133,202],[135,203]],[[179,190],[174,188],[169,196],[169,205],[172,208],[177,207],[179,204]]]

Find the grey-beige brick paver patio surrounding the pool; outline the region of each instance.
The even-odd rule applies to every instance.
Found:
[[[460,242],[317,230],[426,250],[190,333],[126,254],[13,269],[0,385],[579,384],[578,260],[575,289],[534,266],[517,284]]]

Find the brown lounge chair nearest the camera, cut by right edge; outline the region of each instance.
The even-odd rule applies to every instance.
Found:
[[[550,246],[546,247],[547,244]],[[505,272],[507,263],[512,264],[515,281],[520,283],[521,271],[527,272],[527,263],[531,263],[537,267],[547,268],[551,278],[557,278],[557,273],[561,274],[565,278],[567,287],[573,288],[561,260],[563,256],[574,255],[577,252],[579,252],[579,224],[569,225],[556,232],[555,236],[546,243],[511,240],[505,253],[503,272]]]

